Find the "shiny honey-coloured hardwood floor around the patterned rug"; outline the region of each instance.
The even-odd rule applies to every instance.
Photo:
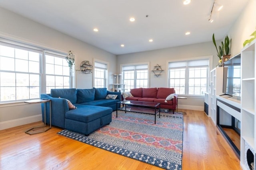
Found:
[[[182,170],[241,170],[224,137],[203,111],[186,111]],[[45,133],[28,135],[30,123],[0,131],[1,170],[160,170],[156,166],[120,156],[56,134],[52,127]]]

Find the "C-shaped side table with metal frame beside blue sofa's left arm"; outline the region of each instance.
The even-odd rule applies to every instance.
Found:
[[[47,102],[50,102],[50,126],[49,127],[46,127],[46,103]],[[33,134],[36,134],[36,133],[42,133],[42,132],[46,132],[48,131],[49,129],[52,128],[52,106],[51,106],[51,100],[42,100],[42,99],[35,99],[35,100],[28,100],[28,101],[25,101],[24,103],[27,103],[27,104],[38,104],[38,103],[44,103],[44,126],[39,126],[39,127],[32,127],[31,129],[28,129],[27,131],[25,131],[25,133],[29,134],[29,135],[33,135]],[[30,132],[32,129],[38,129],[36,131],[32,131]]]

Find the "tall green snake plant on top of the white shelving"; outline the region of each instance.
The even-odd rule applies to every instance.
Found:
[[[221,46],[219,45],[217,47],[214,34],[212,35],[212,42],[213,42],[213,44],[214,44],[214,46],[216,48],[217,56],[221,60],[221,62],[219,61],[219,63],[221,63],[222,66],[223,66],[223,62],[225,62],[225,60],[223,61],[222,58],[225,58],[225,59],[229,59],[230,58],[231,41],[232,41],[232,39],[229,39],[228,35],[226,35],[224,43],[223,43],[223,41],[221,41]],[[229,58],[226,57],[226,56],[229,56]]]

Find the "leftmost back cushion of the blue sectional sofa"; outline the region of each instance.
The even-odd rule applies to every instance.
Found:
[[[76,104],[76,89],[66,88],[66,89],[51,89],[51,96],[53,98],[64,98],[68,99],[72,104]]]

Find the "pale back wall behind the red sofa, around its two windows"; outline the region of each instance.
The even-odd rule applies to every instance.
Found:
[[[140,63],[150,62],[150,70],[156,64],[162,66],[164,70],[162,75],[156,77],[150,71],[149,87],[168,87],[168,61],[179,59],[192,59],[195,57],[213,56],[213,64],[210,66],[212,69],[218,63],[216,49],[212,42],[184,45],[180,47],[172,47],[166,49],[159,49],[153,51],[145,51],[140,53],[131,53],[125,55],[118,55],[117,64]],[[117,72],[121,72],[118,68]],[[178,108],[204,110],[204,96],[203,97],[188,97],[187,100],[179,100]]]

